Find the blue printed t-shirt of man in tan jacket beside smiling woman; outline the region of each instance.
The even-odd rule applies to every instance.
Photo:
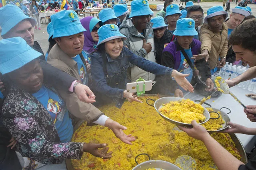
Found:
[[[82,51],[82,54],[85,58],[85,62],[88,62],[89,64],[91,63],[91,61],[89,62],[89,58],[86,55],[85,51]],[[84,85],[88,85],[88,74],[87,74],[87,70],[86,67],[80,57],[80,55],[77,55],[75,57],[72,58],[73,60],[75,60],[77,62],[77,69],[78,69],[78,74],[81,78],[81,81],[83,82]]]

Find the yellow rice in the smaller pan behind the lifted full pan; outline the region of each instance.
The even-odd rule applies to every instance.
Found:
[[[206,108],[209,112],[214,111],[212,108],[207,107]],[[218,111],[220,114],[220,111]],[[210,113],[210,117],[217,118],[218,115],[216,113]],[[222,125],[225,123],[225,121],[222,119],[222,116],[220,115],[219,119],[209,119],[208,122],[202,124],[203,127],[206,128],[206,130],[218,130],[219,128],[222,128]]]

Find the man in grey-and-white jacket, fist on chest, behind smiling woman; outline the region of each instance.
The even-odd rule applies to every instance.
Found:
[[[147,0],[133,0],[129,20],[121,25],[120,32],[127,37],[124,44],[136,55],[155,63],[154,33],[150,22],[153,11]],[[131,66],[131,82],[141,77],[144,80],[154,80],[155,75]]]

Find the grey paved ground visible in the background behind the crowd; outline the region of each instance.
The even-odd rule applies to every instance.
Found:
[[[179,5],[179,2],[174,2],[175,4]],[[129,2],[130,4],[130,2]],[[149,4],[163,4],[163,2],[161,1],[150,1]],[[197,3],[196,3],[197,4]],[[216,5],[220,5],[222,6],[222,2],[201,2],[200,6],[202,6],[202,8],[204,9],[204,15],[206,16],[206,11],[212,7],[212,6],[216,6]],[[183,4],[183,7],[185,6],[185,4]],[[235,2],[232,2],[230,5],[230,9],[234,8],[236,6]],[[250,6],[250,8],[252,8],[252,12],[254,14],[256,14],[256,5],[254,4],[249,4],[248,6]],[[231,10],[230,10],[231,11]],[[154,16],[156,16],[158,11],[154,11]],[[231,12],[229,12],[231,13]],[[38,43],[40,44],[40,46],[42,47],[42,50],[44,51],[44,53],[46,53],[47,49],[48,49],[48,34],[46,31],[47,28],[47,24],[42,24],[41,25],[41,29],[42,30],[35,30],[35,40],[38,41]]]

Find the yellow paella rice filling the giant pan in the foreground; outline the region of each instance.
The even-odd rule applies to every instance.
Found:
[[[86,126],[83,123],[74,133],[73,142],[96,142],[109,144],[113,151],[111,159],[101,159],[84,153],[81,160],[71,160],[75,169],[81,170],[131,170],[137,164],[135,156],[141,153],[150,155],[151,160],[164,160],[175,164],[178,156],[189,155],[196,160],[197,170],[213,170],[214,162],[205,145],[200,140],[180,132],[177,127],[160,117],[154,107],[146,104],[148,97],[139,97],[143,103],[125,101],[121,109],[115,105],[99,108],[107,116],[126,126],[124,132],[132,134],[136,140],[132,145],[125,144],[115,137],[107,127]],[[158,99],[158,97],[150,97]],[[211,134],[231,154],[240,159],[239,151],[229,134]],[[138,163],[148,160],[147,156],[137,158]]]

